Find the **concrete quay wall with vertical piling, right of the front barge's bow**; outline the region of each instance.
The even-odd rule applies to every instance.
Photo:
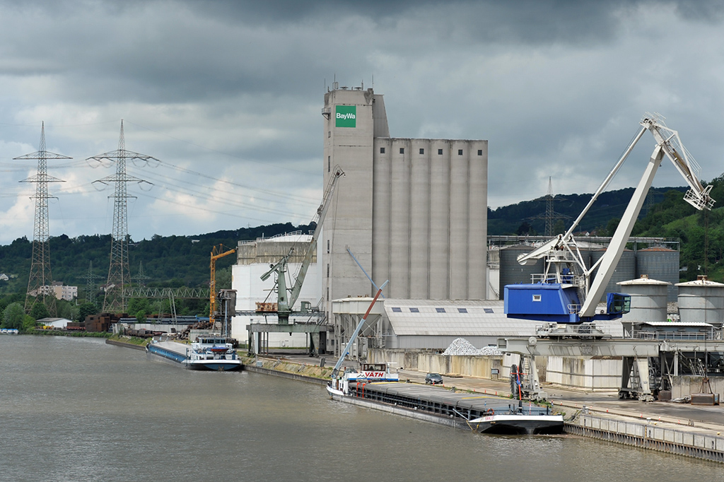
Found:
[[[724,462],[724,436],[699,434],[654,425],[654,423],[615,420],[581,413],[565,423],[565,432],[618,444],[641,447],[669,454],[686,455]]]

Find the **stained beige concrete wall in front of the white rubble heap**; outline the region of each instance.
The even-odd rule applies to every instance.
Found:
[[[510,370],[510,367],[503,367],[502,356],[444,356],[432,352],[373,348],[369,350],[368,359],[370,363],[390,363],[393,368],[444,375],[476,376],[482,379],[508,376]],[[497,375],[492,374],[494,369],[497,369]]]

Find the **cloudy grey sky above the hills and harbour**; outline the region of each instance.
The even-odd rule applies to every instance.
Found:
[[[279,221],[321,200],[325,86],[373,86],[390,134],[489,140],[492,208],[591,193],[646,112],[724,172],[721,1],[0,0],[0,243],[33,237],[41,122],[50,234],[108,234],[118,147],[134,240]],[[636,185],[644,137],[611,188]],[[683,185],[662,166],[654,185]],[[148,189],[150,187],[150,189]],[[719,200],[724,205],[724,200]]]

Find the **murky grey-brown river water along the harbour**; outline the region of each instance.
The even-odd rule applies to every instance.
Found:
[[[188,371],[99,339],[0,337],[1,481],[688,481],[724,468],[575,436],[486,436]]]

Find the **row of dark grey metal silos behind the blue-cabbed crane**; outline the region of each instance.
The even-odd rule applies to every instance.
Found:
[[[529,253],[534,248],[527,245],[515,245],[500,250],[500,297],[504,296],[506,284],[530,283],[531,275],[542,274],[544,260],[534,265],[521,266],[518,255]],[[581,250],[586,269],[593,266],[606,253],[606,248],[586,248]],[[597,274],[593,272],[592,280]],[[623,250],[620,261],[606,286],[606,292],[600,301],[605,301],[607,293],[620,292],[618,284],[646,274],[651,279],[666,282],[666,300],[675,302],[678,292],[675,284],[679,280],[679,253],[669,248],[646,248],[636,252]]]

